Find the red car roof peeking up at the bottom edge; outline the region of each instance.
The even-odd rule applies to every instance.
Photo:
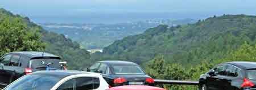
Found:
[[[147,85],[125,85],[125,86],[109,88],[108,90],[166,90],[166,89],[151,87]]]

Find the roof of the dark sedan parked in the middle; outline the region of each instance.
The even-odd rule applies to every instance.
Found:
[[[129,61],[98,61],[96,63],[107,63],[110,65],[114,64],[123,64],[123,65],[138,65],[137,63],[134,62],[129,62]]]

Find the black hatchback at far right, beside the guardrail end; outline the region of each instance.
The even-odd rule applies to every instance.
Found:
[[[200,90],[256,89],[255,62],[226,62],[200,76]]]

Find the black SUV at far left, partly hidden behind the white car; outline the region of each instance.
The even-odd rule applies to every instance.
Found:
[[[13,52],[0,58],[0,87],[40,70],[59,70],[60,57],[44,52]]]

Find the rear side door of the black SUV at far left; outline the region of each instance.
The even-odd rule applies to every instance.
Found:
[[[20,70],[19,59],[20,55],[12,54],[9,66],[5,66],[4,68],[7,74],[5,78],[9,80],[8,82],[6,82],[7,84],[10,84],[14,80],[18,79],[16,75],[18,75],[17,72],[19,72]]]

